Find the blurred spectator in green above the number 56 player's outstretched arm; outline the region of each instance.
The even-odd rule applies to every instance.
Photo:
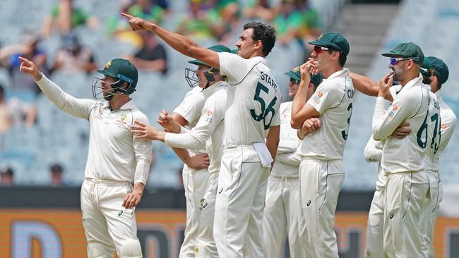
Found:
[[[192,39],[221,39],[225,35],[225,25],[219,13],[206,9],[203,0],[189,0],[189,14],[181,20],[177,33]]]

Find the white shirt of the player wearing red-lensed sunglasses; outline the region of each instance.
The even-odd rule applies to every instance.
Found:
[[[304,137],[298,148],[300,155],[321,160],[342,159],[353,99],[354,85],[347,68],[333,73],[318,85],[307,104],[320,113],[321,128]]]

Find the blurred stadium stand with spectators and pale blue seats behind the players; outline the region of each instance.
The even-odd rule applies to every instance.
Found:
[[[93,78],[100,76],[97,68],[117,57],[131,60],[139,70],[137,92],[132,97],[151,123],[162,109],[172,111],[189,90],[184,68],[191,65],[186,56],[149,32],[129,30],[121,12],[188,35],[204,47],[219,43],[234,49],[244,23],[261,20],[272,24],[278,39],[268,61],[278,85],[283,85],[283,101],[288,101],[288,78],[283,73],[307,59],[311,52],[307,42],[321,32],[345,35],[351,53],[347,68],[374,80],[388,71],[387,60],[379,58],[379,53],[406,41],[419,44],[427,56],[443,59],[450,70],[459,68],[454,43],[459,30],[448,29],[459,27],[457,1],[380,1],[384,4],[377,8],[359,2],[0,1],[1,185],[80,185],[88,153],[88,122],[59,111],[45,99],[33,79],[19,72],[18,56],[34,61],[69,94],[85,98],[92,97]],[[443,92],[456,114],[457,82],[458,75],[453,73]],[[344,187],[372,189],[376,167],[366,164],[362,153],[371,132],[374,99],[359,94],[356,102],[345,151]],[[458,143],[456,133],[453,146],[442,156],[442,180],[446,183],[459,183],[453,173],[457,154],[451,151]],[[147,187],[181,188],[182,164],[172,150],[155,142],[153,156]]]

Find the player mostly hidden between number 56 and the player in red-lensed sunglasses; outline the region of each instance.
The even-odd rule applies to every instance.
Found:
[[[289,97],[297,94],[301,74],[299,66],[285,73],[290,77]],[[322,82],[322,75],[314,75],[308,85],[309,99]],[[263,245],[265,256],[281,257],[285,237],[288,235],[290,257],[305,257],[298,233],[298,171],[301,161],[297,148],[297,130],[290,126],[292,102],[280,104],[280,142],[273,170],[268,178],[263,217]]]

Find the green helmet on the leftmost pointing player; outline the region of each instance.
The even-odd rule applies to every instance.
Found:
[[[133,87],[137,85],[137,68],[126,59],[112,59],[105,65],[104,70],[98,69],[97,72],[114,79],[124,80]]]

